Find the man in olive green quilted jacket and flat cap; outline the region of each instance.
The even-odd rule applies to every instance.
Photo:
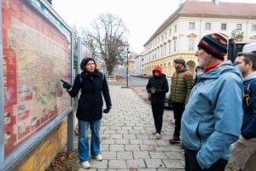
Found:
[[[189,71],[189,66],[186,66],[186,61],[183,59],[173,60],[175,72],[172,75],[171,94],[169,100],[172,101],[172,109],[175,119],[175,128],[171,144],[180,143],[180,128],[181,118],[186,103],[189,100],[189,94],[193,85],[193,74]]]

